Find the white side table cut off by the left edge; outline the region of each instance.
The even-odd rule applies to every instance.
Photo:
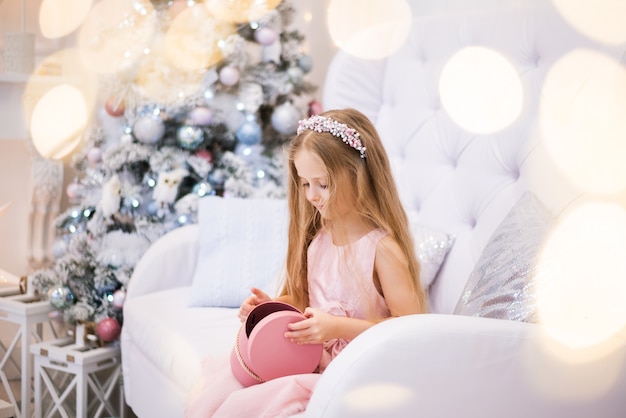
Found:
[[[50,302],[39,300],[32,295],[20,294],[0,297],[0,322],[5,321],[18,325],[13,340],[8,346],[5,347],[0,342],[0,349],[4,354],[2,359],[0,359],[0,380],[2,380],[4,389],[7,392],[9,402],[15,407],[16,418],[30,418],[32,416],[33,360],[29,352],[29,346],[33,341],[39,342],[42,340],[42,325],[49,323],[50,318],[48,314],[52,310]],[[54,333],[53,328],[52,331]],[[18,348],[21,350],[19,364],[15,361],[16,356],[14,356],[14,354],[17,354]],[[19,401],[13,393],[6,374],[9,367],[16,368],[22,376]]]

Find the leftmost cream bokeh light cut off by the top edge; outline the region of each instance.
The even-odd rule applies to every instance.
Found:
[[[46,38],[66,36],[80,27],[92,0],[43,0],[39,8],[39,28]]]

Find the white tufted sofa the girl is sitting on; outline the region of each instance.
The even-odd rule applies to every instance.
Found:
[[[521,115],[492,134],[463,130],[441,106],[441,70],[471,45],[504,54],[522,82]],[[336,56],[324,107],[372,118],[407,209],[455,243],[429,289],[432,313],[386,321],[351,342],[322,376],[306,416],[626,416],[623,329],[608,354],[566,361],[545,348],[541,325],[453,314],[520,196],[531,190],[554,215],[580,201],[551,162],[537,120],[546,73],[580,46],[621,58],[620,48],[595,45],[550,5],[417,18],[391,57]],[[128,288],[124,389],[141,418],[182,416],[201,362],[227,356],[239,327],[235,308],[189,307],[199,236],[192,225],[158,240]]]

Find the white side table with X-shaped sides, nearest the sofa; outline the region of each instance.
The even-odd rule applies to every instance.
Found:
[[[35,417],[124,417],[119,346],[76,345],[65,338],[31,346]]]

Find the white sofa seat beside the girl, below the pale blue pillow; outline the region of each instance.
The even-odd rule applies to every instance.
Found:
[[[189,307],[191,286],[131,298],[124,327],[132,345],[183,391],[204,361],[217,365],[230,354],[239,328],[237,309]]]

